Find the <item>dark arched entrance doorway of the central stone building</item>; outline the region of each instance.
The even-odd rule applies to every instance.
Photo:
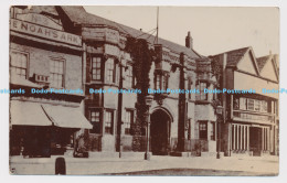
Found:
[[[156,155],[167,155],[170,146],[171,118],[163,109],[156,109],[150,116],[151,152]]]

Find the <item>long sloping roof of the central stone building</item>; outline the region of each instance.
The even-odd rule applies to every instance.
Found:
[[[155,42],[155,36],[150,34],[145,34],[145,32],[141,32],[139,30],[136,30],[130,26],[126,26],[116,22],[113,22],[110,20],[100,18],[95,14],[91,14],[85,11],[83,7],[65,7],[62,6],[63,11],[67,14],[67,17],[71,19],[72,22],[83,24],[83,25],[107,25],[117,29],[121,33],[129,34],[134,37],[141,37],[148,40],[149,43]],[[198,54],[194,50],[185,47],[183,45],[179,45],[177,43],[160,39],[158,40],[159,44],[162,44],[163,46],[170,49],[171,51],[176,53],[183,52],[189,57],[199,58],[201,57],[200,54]]]

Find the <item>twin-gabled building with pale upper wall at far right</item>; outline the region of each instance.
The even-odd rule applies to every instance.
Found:
[[[278,154],[278,55],[255,57],[252,47],[211,56],[222,67],[220,88],[247,90],[225,93],[226,110],[221,123],[225,155]]]

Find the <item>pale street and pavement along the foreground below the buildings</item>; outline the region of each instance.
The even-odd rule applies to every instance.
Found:
[[[12,157],[12,174],[55,174],[55,159],[23,159]],[[277,175],[278,157],[159,157],[150,161],[137,158],[65,158],[66,174],[76,175]]]

